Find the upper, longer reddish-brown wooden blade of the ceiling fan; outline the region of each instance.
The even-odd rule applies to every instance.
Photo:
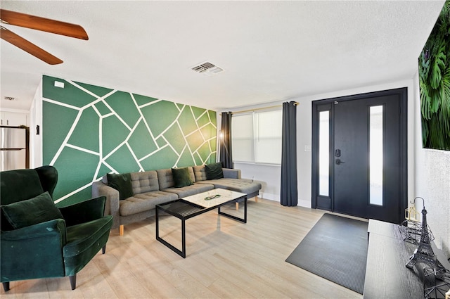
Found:
[[[61,34],[66,37],[75,37],[77,39],[89,39],[84,28],[76,24],[41,18],[26,13],[18,13],[16,11],[7,11],[6,9],[0,9],[0,19],[2,23],[9,25]]]

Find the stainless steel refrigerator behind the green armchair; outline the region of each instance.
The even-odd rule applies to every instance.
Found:
[[[27,127],[0,126],[0,171],[30,167]]]

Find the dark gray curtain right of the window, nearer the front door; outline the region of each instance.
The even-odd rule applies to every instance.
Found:
[[[282,205],[297,205],[297,108],[295,102],[283,103],[283,136],[281,138]]]

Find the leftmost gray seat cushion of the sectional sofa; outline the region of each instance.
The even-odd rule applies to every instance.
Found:
[[[155,205],[167,203],[178,199],[175,193],[163,191],[150,191],[146,193],[134,194],[124,201],[120,201],[120,216],[134,215],[139,212],[153,210]]]

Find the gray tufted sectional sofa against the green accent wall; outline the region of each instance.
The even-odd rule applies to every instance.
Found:
[[[242,179],[240,170],[222,169],[224,178],[207,179],[205,165],[188,167],[194,184],[176,188],[172,169],[131,172],[134,196],[120,200],[119,191],[108,186],[107,176],[92,184],[92,196],[106,196],[105,215],[113,215],[113,229],[119,227],[124,234],[124,224],[144,220],[155,215],[155,205],[174,201],[178,198],[210,191],[215,188],[229,189],[257,197],[261,184],[250,179]]]

